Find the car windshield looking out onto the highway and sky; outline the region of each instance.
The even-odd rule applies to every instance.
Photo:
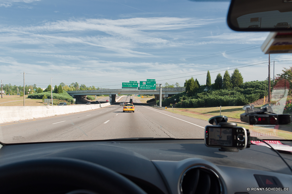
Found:
[[[269,79],[268,32],[230,30],[229,5],[1,1],[0,142],[203,139],[218,115],[252,136],[292,139],[290,124],[241,121],[249,104],[291,114],[292,55],[270,55]]]

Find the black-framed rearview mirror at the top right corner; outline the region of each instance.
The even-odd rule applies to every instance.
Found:
[[[227,24],[235,31],[292,31],[292,0],[232,0]]]

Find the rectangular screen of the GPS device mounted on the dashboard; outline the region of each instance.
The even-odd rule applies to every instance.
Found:
[[[232,146],[232,129],[209,128],[209,145]]]

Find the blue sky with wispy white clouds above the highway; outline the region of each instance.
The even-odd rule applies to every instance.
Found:
[[[258,47],[268,33],[230,30],[228,7],[187,0],[0,0],[0,79],[22,85],[25,71],[26,83],[41,88],[50,77],[53,85],[111,89],[146,78],[183,86],[191,76],[205,84],[207,70],[214,82],[218,71],[231,74],[235,67],[242,67],[244,81],[266,79],[268,56]],[[283,58],[292,56],[271,55]],[[275,73],[289,63],[276,62]]]

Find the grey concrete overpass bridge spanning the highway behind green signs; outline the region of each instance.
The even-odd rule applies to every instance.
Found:
[[[185,91],[185,87],[177,88],[161,88],[161,99],[171,97],[174,94],[178,94]],[[160,88],[156,90],[140,90],[140,89],[104,89],[104,90],[77,90],[77,91],[67,91],[67,93],[76,98],[77,100],[86,99],[87,95],[109,95],[112,98],[112,103],[116,102],[117,95],[126,95],[126,94],[154,94],[155,100],[159,100]]]

